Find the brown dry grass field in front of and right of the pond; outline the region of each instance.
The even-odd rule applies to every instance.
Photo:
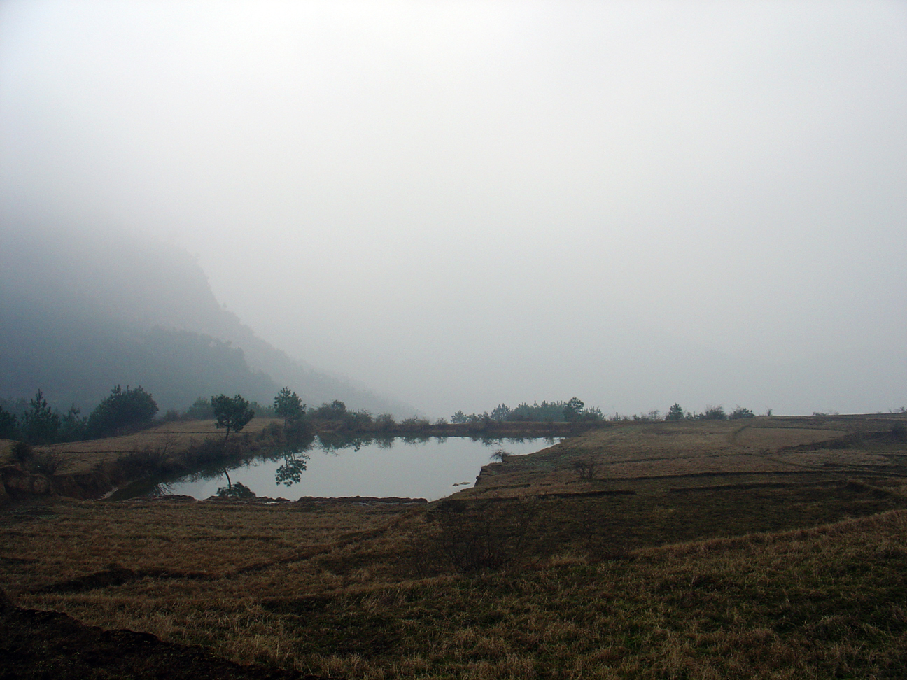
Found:
[[[899,423],[613,426],[427,506],[20,503],[0,510],[0,585],[317,675],[900,678]]]

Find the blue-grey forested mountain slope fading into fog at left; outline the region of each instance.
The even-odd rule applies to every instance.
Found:
[[[193,257],[124,237],[7,230],[0,248],[0,394],[38,387],[90,407],[112,384],[141,384],[162,409],[200,395],[268,402],[288,384],[309,404],[341,399],[410,411],[268,345],[219,306]]]

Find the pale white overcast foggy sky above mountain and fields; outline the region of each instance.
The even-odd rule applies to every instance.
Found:
[[[434,416],[907,403],[904,2],[6,0],[0,182]]]

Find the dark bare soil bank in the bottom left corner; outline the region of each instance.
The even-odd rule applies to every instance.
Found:
[[[14,607],[0,591],[0,678],[101,680],[325,680],[317,675],[239,665],[199,647],[147,633],[84,626],[55,612]]]

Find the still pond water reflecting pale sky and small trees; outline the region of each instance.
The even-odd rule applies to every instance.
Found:
[[[317,437],[300,451],[271,452],[227,470],[211,468],[170,481],[137,482],[114,493],[112,499],[174,494],[202,500],[222,489],[246,487],[256,496],[288,500],[303,496],[437,500],[473,486],[495,451],[522,455],[541,451],[557,441],[468,437],[351,441]]]

